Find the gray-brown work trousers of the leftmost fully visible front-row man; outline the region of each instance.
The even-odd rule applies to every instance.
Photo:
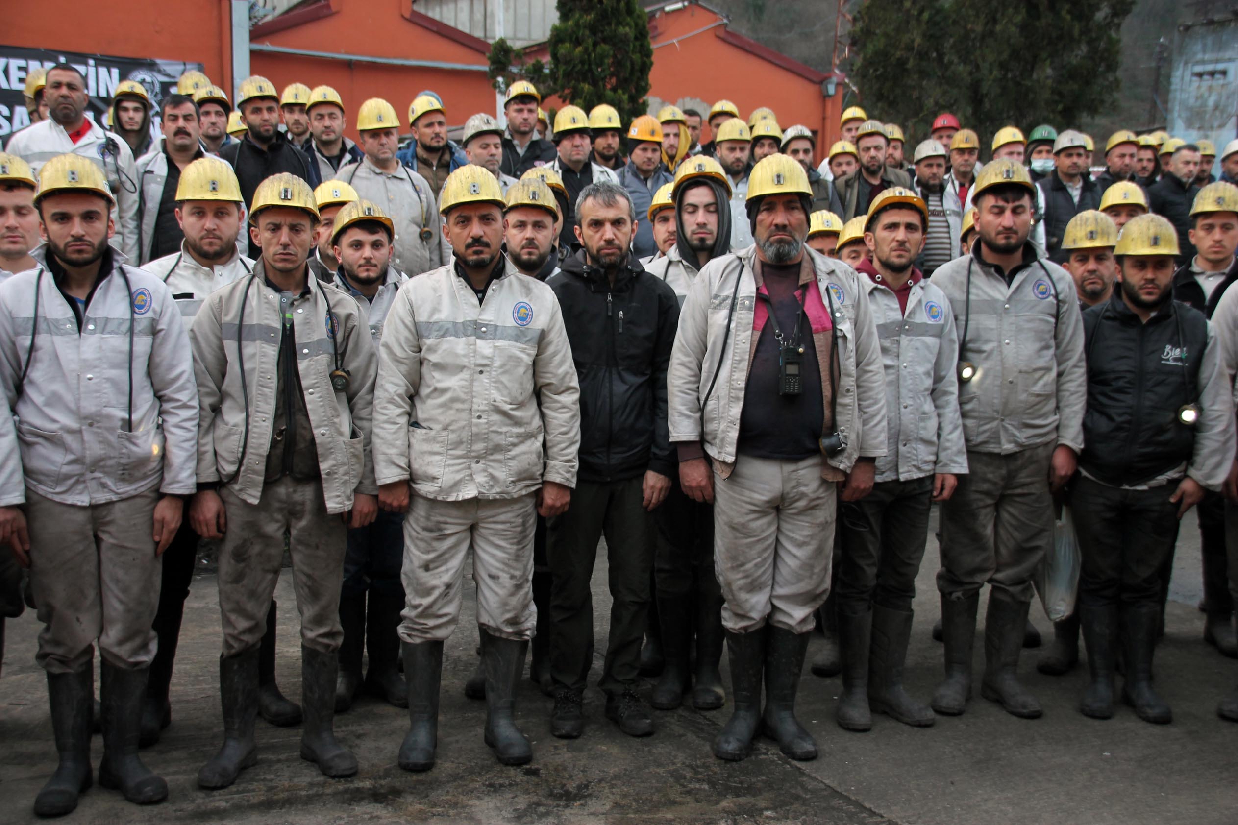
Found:
[[[90,665],[94,642],[113,667],[155,658],[162,559],[155,554],[152,487],[105,505],[63,505],[26,489],[30,584],[38,605],[38,653],[48,673]],[[9,552],[9,548],[4,548]]]

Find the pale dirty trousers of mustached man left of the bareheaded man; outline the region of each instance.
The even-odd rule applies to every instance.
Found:
[[[405,606],[400,638],[446,641],[459,623],[464,560],[473,549],[477,623],[491,636],[527,641],[532,601],[535,496],[437,501],[412,494],[404,519]]]

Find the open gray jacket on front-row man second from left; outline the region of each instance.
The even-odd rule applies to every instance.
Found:
[[[327,512],[342,513],[353,508],[354,492],[378,492],[370,460],[378,356],[353,297],[308,277],[310,294],[292,302],[297,372],[318,450],[323,501]],[[212,292],[189,329],[201,409],[198,482],[234,479],[229,489],[251,505],[261,498],[271,445],[281,324],[280,296],[264,283],[258,261],[251,276]],[[331,382],[337,353],[349,372],[344,392]],[[244,359],[244,390],[238,355]]]

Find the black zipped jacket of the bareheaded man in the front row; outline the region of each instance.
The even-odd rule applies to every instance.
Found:
[[[629,256],[612,287],[584,261],[565,260],[546,283],[558,297],[581,380],[582,481],[623,481],[654,470],[675,477],[666,371],[680,302]]]

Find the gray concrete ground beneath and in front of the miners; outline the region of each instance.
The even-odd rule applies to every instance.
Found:
[[[909,689],[925,699],[942,667],[941,646],[930,638],[938,612],[936,553],[930,538],[906,668]],[[605,649],[609,604],[604,552],[599,555],[594,674]],[[473,588],[465,592],[472,597]],[[605,721],[594,689],[587,694],[584,737],[556,740],[547,725],[552,700],[522,680],[520,724],[534,740],[535,758],[520,768],[499,766],[482,742],[484,704],[463,695],[475,662],[475,631],[463,625],[448,642],[438,764],[430,773],[409,774],[395,764],[406,727],[404,711],[364,699],[337,720],[337,731],[360,762],[357,778],[323,778],[298,758],[297,729],[259,721],[258,766],[232,788],[207,793],[194,779],[220,741],[215,596],[214,576],[196,580],[172,684],[173,722],[162,741],[144,752],[147,764],[168,780],[168,800],[142,809],[95,787],[67,821],[1238,823],[1238,726],[1214,715],[1218,699],[1238,680],[1238,663],[1201,639],[1198,532],[1191,516],[1179,542],[1167,635],[1156,658],[1158,689],[1174,707],[1172,725],[1148,725],[1127,707],[1109,721],[1084,719],[1076,709],[1084,669],[1060,678],[1040,675],[1032,651],[1025,653],[1020,670],[1045,707],[1040,720],[1014,719],[977,696],[964,716],[938,719],[932,729],[878,717],[870,732],[848,733],[833,721],[839,680],[818,679],[805,668],[799,716],[821,752],[808,763],[786,759],[768,741],[742,763],[713,758],[709,742],[727,709],[655,711],[657,733],[630,740]],[[296,698],[300,657],[288,570],[277,597],[279,678]],[[467,604],[467,615],[472,610]],[[1046,637],[1051,633],[1039,606],[1034,621]],[[0,823],[32,820],[30,805],[56,764],[45,679],[33,663],[36,633],[37,622],[28,612],[9,622],[0,679]],[[977,680],[980,648],[978,643]],[[98,762],[98,738],[93,754]]]

